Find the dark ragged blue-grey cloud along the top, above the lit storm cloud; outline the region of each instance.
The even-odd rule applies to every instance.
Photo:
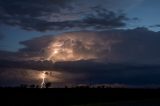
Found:
[[[111,6],[98,4],[98,0],[87,2],[89,3],[79,0],[0,1],[0,22],[36,31],[126,26],[125,21],[128,18],[125,14],[108,10]],[[104,2],[114,4],[114,1],[110,0]]]

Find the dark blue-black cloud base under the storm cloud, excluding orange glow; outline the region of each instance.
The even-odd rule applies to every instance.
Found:
[[[22,72],[23,70],[48,70],[63,73],[62,85],[65,83],[159,85],[160,81],[160,65],[109,64],[92,61],[57,62],[55,64],[49,61],[0,61],[0,64],[1,70],[20,69]],[[79,75],[82,76],[78,77]]]

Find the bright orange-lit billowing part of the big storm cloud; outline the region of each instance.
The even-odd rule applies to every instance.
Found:
[[[120,41],[113,36],[98,35],[94,32],[71,32],[55,36],[46,48],[47,60],[76,61],[103,59],[111,47]],[[105,54],[104,54],[105,53]]]

